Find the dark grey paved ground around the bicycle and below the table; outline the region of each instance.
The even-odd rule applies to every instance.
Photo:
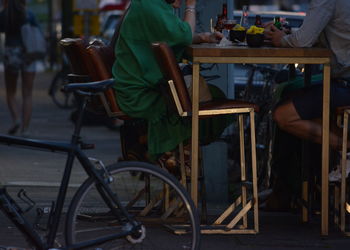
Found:
[[[34,91],[31,135],[34,138],[68,140],[73,129],[69,110],[57,108],[47,94],[53,73],[39,73]],[[0,133],[11,126],[8,114],[3,73],[0,72]],[[88,151],[90,156],[110,164],[120,156],[119,134],[106,127],[84,127],[83,138],[96,144]],[[9,192],[16,194],[25,188],[38,204],[48,207],[55,199],[64,168],[65,156],[50,152],[0,145],[0,183],[9,185]],[[74,167],[68,201],[76,187],[86,178],[77,164]],[[63,223],[63,220],[62,220]],[[330,223],[332,221],[330,220]],[[61,242],[62,234],[59,239]],[[20,233],[0,212],[0,246],[25,246]],[[299,214],[260,212],[260,233],[257,235],[203,235],[204,250],[230,249],[349,249],[350,238],[344,237],[330,224],[329,237],[320,237],[320,218],[314,216],[309,224],[301,224]],[[0,247],[1,249],[1,247]],[[157,249],[155,249],[157,250]]]

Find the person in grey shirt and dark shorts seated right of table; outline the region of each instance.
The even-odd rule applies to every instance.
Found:
[[[331,58],[330,114],[350,105],[350,1],[311,0],[302,26],[291,34],[269,24],[265,36],[276,47],[329,48]],[[278,126],[299,138],[322,143],[322,81],[296,92],[278,105],[273,117]],[[331,126],[330,146],[341,149],[341,134]],[[350,147],[350,143],[348,143]]]

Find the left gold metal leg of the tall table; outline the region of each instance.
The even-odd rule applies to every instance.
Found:
[[[191,144],[191,197],[198,205],[198,109],[199,109],[199,63],[193,63],[192,82],[192,144]]]

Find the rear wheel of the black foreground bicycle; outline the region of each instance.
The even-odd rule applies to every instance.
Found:
[[[197,210],[184,187],[174,176],[144,162],[119,162],[107,169],[114,180],[110,183],[111,189],[118,193],[122,204],[128,204],[125,206],[128,212],[143,223],[146,236],[139,243],[131,243],[124,237],[88,249],[199,249],[200,226]],[[146,180],[149,181],[149,186],[145,185]],[[110,210],[96,192],[94,183],[92,178],[86,180],[71,202],[66,220],[68,246],[91,240],[96,235],[103,236],[110,234],[111,231],[117,232],[122,227],[109,213]],[[166,210],[170,213],[168,217],[164,211],[163,195],[160,195],[162,199],[153,206],[146,206],[152,204],[151,202],[164,191],[163,187],[166,185],[169,187],[169,200],[177,202],[174,211]],[[133,204],[130,204],[143,187],[148,188],[149,192],[140,195]],[[145,212],[150,207],[149,212]],[[175,234],[170,228],[176,228],[180,234]]]

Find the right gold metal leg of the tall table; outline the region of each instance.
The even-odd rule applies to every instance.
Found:
[[[328,235],[330,65],[323,68],[321,235]]]

